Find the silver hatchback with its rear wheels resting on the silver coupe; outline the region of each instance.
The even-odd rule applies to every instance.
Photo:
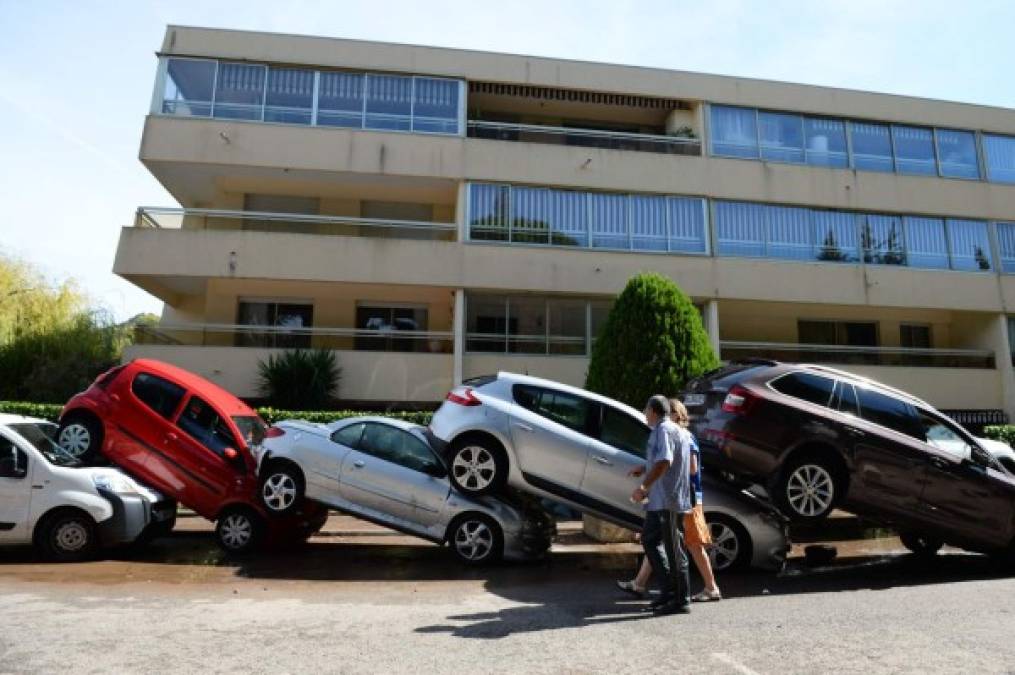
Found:
[[[644,414],[622,403],[511,373],[456,387],[429,426],[462,492],[509,486],[632,529],[641,527],[645,512],[630,501],[638,479],[627,474],[645,465],[649,433]],[[704,513],[715,538],[730,547],[715,549],[717,566],[783,565],[786,523],[772,508],[709,483]]]

